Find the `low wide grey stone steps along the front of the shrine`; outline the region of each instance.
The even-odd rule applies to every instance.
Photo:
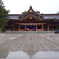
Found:
[[[6,31],[6,34],[49,34],[54,31]]]

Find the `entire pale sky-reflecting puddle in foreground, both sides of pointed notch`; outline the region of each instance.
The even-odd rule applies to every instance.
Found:
[[[59,58],[59,52],[55,51],[39,51],[31,57],[23,51],[10,51],[6,59],[20,59],[20,58]]]

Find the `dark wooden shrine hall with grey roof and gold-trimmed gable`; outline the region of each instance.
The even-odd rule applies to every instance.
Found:
[[[54,31],[59,26],[59,14],[40,14],[32,9],[23,14],[9,14],[6,30]]]

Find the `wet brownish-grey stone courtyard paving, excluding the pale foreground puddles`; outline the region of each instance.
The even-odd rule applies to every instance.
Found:
[[[7,58],[10,52],[26,53],[30,58],[39,52],[59,56],[59,34],[0,34],[0,58]]]

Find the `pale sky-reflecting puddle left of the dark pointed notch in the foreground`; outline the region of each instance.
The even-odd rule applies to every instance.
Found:
[[[30,56],[23,51],[10,51],[6,59],[30,58]]]

